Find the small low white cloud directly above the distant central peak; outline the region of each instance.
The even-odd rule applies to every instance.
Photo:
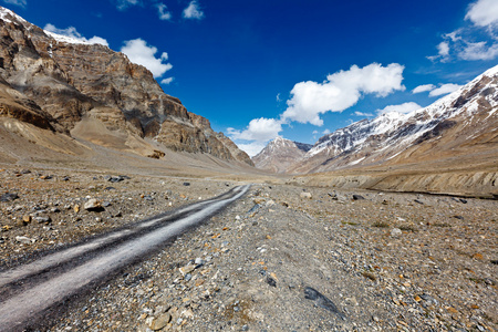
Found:
[[[282,131],[282,124],[274,118],[253,118],[243,131],[227,128],[232,139],[268,142],[273,139]]]

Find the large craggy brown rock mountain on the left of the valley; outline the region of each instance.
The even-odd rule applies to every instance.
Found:
[[[45,32],[1,7],[0,45],[0,116],[139,154],[168,148],[252,165],[123,53]]]

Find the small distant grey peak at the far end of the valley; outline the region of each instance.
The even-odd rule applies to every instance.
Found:
[[[252,157],[252,160],[258,168],[284,173],[297,159],[301,159],[311,147],[310,144],[277,137]]]

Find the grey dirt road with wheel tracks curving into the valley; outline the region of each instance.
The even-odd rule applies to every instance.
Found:
[[[0,331],[32,328],[54,304],[95,286],[243,196],[235,187],[199,201],[0,272]]]

